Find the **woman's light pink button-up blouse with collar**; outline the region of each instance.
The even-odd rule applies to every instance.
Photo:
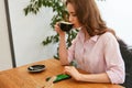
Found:
[[[68,61],[73,59],[77,62],[77,67],[88,73],[107,73],[112,84],[124,81],[124,62],[116,37],[109,32],[85,42],[80,30],[68,48]]]

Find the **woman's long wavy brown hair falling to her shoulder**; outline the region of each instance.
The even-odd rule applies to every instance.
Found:
[[[73,4],[78,21],[86,28],[90,36],[101,35],[109,31],[95,0],[66,0],[66,6],[68,3]]]

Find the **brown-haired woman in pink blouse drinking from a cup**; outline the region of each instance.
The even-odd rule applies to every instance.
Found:
[[[75,59],[78,68],[90,74],[81,74],[74,66],[65,66],[64,72],[78,81],[122,84],[124,63],[119,44],[101,19],[95,0],[67,0],[66,7],[69,22],[79,32],[67,50],[65,32],[56,23],[59,59],[63,65]]]

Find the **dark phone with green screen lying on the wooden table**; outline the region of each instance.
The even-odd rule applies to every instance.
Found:
[[[66,74],[59,74],[59,75],[56,76],[56,79],[53,82],[57,82],[57,81],[61,81],[61,80],[64,80],[64,79],[69,79],[69,78],[72,78],[72,76],[66,75]],[[51,79],[51,77],[47,77],[46,81],[48,81],[50,79]]]

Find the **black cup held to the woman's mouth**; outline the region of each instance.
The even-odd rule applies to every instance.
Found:
[[[74,24],[69,22],[62,21],[59,22],[59,28],[62,31],[68,32],[73,29]]]

